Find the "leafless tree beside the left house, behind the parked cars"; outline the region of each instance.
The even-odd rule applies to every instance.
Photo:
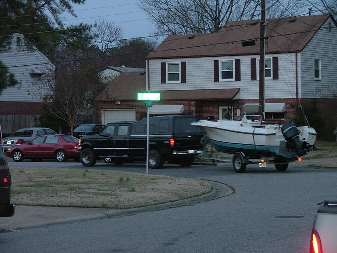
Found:
[[[50,70],[34,84],[51,117],[66,122],[71,133],[76,123],[93,113],[94,99],[104,88],[98,69],[83,58],[82,51],[59,51],[56,71]]]

